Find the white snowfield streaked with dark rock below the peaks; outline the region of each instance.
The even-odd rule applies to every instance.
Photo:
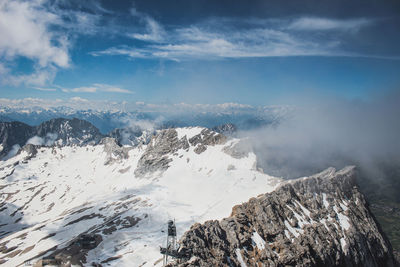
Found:
[[[200,131],[177,129],[180,139]],[[84,265],[161,266],[167,220],[176,220],[179,238],[193,223],[227,217],[280,183],[255,168],[253,153],[224,152],[238,142],[200,154],[192,145],[179,149],[166,171],[146,178],[134,175],[146,145],[124,147],[126,157],[105,145],[39,147],[32,158],[23,151],[0,162],[0,264],[34,263],[92,233],[101,242]]]

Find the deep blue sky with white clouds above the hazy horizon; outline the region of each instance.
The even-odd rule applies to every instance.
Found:
[[[369,99],[399,88],[399,28],[398,1],[3,0],[0,97]]]

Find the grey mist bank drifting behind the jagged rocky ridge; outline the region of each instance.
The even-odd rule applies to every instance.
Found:
[[[249,137],[264,172],[291,179],[356,165],[370,178],[386,179],[383,168],[400,166],[400,92],[366,101],[297,101],[279,124],[239,133]]]

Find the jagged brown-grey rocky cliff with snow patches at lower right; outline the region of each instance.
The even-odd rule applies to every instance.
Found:
[[[394,266],[392,248],[355,183],[328,169],[195,224],[170,266]]]

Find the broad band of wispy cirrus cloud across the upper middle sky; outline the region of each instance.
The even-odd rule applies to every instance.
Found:
[[[373,23],[373,20],[365,18],[353,20],[313,17],[267,20],[220,18],[185,27],[169,27],[165,30],[165,27],[149,16],[140,13],[139,15],[143,20],[148,20],[147,33],[133,34],[132,37],[147,41],[144,46],[121,45],[94,51],[91,54],[172,60],[349,56],[351,53],[343,49],[341,37],[354,34]],[[135,13],[135,16],[139,15]],[[341,34],[338,34],[338,31]]]

